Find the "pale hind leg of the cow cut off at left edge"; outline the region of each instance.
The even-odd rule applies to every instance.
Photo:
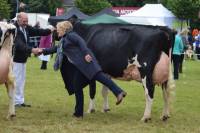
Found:
[[[9,97],[9,110],[7,119],[12,119],[16,115],[15,115],[15,82],[14,82],[14,77],[11,76],[11,73],[9,73],[8,81],[5,83],[5,85]]]

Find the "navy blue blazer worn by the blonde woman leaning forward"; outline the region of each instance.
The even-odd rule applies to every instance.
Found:
[[[52,54],[56,51],[57,46],[54,46],[44,49],[43,54]],[[63,54],[89,80],[92,80],[98,72],[102,71],[86,42],[74,31],[70,31],[63,36]],[[90,63],[85,60],[87,54],[92,56]]]

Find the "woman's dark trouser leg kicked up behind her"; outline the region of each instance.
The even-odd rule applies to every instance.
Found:
[[[99,72],[94,77],[95,80],[99,81],[100,83],[107,86],[117,97],[121,92],[122,89],[118,87],[108,76],[106,76],[103,72]]]

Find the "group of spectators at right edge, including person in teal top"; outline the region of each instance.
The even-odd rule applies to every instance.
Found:
[[[175,36],[172,51],[172,62],[174,68],[174,79],[179,78],[179,73],[183,72],[184,59],[200,60],[200,30],[183,29]]]

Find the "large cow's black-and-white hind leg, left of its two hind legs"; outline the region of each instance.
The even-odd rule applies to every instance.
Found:
[[[147,80],[146,76],[142,78],[142,84],[145,90],[146,106],[145,106],[144,116],[142,117],[141,121],[148,122],[149,120],[151,120],[151,108],[153,103],[154,85],[152,84],[151,80]]]

